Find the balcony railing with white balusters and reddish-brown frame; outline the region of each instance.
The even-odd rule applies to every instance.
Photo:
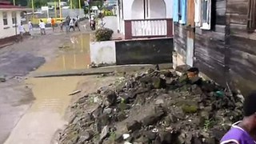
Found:
[[[126,20],[125,28],[126,39],[173,36],[172,19]]]

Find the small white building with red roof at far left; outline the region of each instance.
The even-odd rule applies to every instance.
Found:
[[[10,2],[0,2],[0,39],[18,34],[18,26],[22,21],[22,12],[30,10],[22,6],[13,6]]]

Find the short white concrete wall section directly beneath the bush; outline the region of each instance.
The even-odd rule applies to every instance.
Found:
[[[94,62],[95,64],[115,64],[115,42],[90,42],[90,62]]]

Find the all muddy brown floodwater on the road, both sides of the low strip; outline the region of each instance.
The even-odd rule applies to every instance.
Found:
[[[61,54],[36,72],[85,69],[90,64],[90,34],[79,34],[63,42]],[[50,144],[66,121],[69,96],[85,77],[29,78],[35,101],[11,132],[5,144]]]

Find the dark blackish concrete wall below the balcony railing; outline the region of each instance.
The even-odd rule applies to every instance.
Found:
[[[115,45],[117,65],[172,62],[173,38],[120,41]]]

